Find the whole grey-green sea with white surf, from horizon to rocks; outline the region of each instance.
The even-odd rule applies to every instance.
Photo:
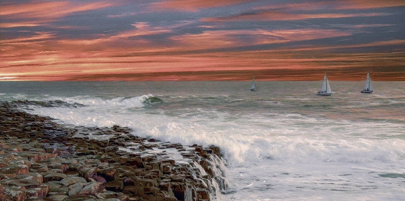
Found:
[[[64,124],[128,126],[184,145],[214,144],[228,188],[215,200],[403,200],[405,82],[0,82],[0,100],[86,107],[32,114]]]

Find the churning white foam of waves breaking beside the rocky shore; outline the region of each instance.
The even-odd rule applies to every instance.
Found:
[[[236,191],[223,199],[266,200],[275,191],[292,200],[302,195],[307,200],[345,199],[370,183],[379,184],[379,193],[398,193],[398,188],[389,191],[387,184],[397,180],[379,182],[378,174],[405,172],[405,140],[395,137],[405,136],[401,124],[374,122],[369,126],[368,122],[295,113],[235,117],[212,108],[144,110],[148,97],[73,97],[65,100],[88,107],[36,107],[34,113],[80,126],[128,126],[136,135],[172,143],[215,144],[229,162],[228,177]],[[335,194],[330,195],[328,188],[335,189]],[[346,188],[353,193],[340,191]],[[319,191],[319,197],[311,191]]]

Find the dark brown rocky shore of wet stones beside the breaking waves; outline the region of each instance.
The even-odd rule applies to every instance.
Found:
[[[60,125],[18,110],[61,104],[0,103],[0,201],[212,200],[226,188],[216,146],[160,142],[119,126]]]

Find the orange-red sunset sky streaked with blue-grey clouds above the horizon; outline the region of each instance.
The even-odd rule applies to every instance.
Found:
[[[0,1],[0,81],[405,81],[405,1]]]

